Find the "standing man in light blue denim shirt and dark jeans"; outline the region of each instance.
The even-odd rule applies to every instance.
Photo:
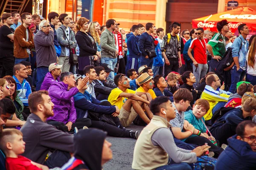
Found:
[[[246,55],[249,42],[246,40],[246,37],[250,34],[250,30],[246,24],[241,24],[238,26],[238,31],[240,35],[234,40],[231,46],[235,65],[231,69],[232,82],[229,91],[233,94],[236,93],[236,83],[241,82],[247,73]]]

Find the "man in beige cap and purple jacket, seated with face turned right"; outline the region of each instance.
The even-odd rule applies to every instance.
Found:
[[[62,65],[58,65],[57,63],[49,65],[49,72],[45,75],[40,90],[48,91],[52,84],[60,82],[61,68]]]

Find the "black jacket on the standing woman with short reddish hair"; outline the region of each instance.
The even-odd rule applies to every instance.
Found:
[[[91,36],[90,33],[87,33]],[[90,37],[82,31],[77,31],[76,42],[79,46],[79,57],[93,56],[97,52],[97,45],[94,40],[94,45]],[[93,37],[93,36],[91,36]]]

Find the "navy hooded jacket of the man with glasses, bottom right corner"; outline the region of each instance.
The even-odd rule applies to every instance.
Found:
[[[228,147],[218,157],[215,170],[255,170],[256,152],[236,136],[227,139]]]

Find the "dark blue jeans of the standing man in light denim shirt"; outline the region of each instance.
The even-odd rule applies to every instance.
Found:
[[[232,82],[229,90],[231,93],[236,93],[236,83],[241,82],[244,79],[246,72],[246,69],[243,70],[241,68],[239,68],[239,70],[236,71],[236,65],[234,66],[234,68],[231,69]]]

